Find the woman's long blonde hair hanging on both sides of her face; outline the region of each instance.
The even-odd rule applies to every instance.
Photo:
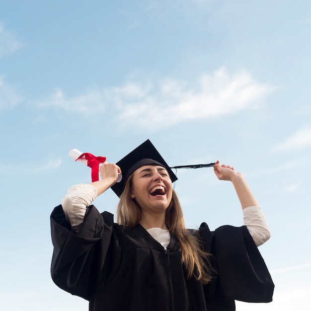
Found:
[[[132,175],[128,178],[117,208],[117,223],[129,228],[136,226],[142,219],[140,207],[131,198]],[[211,254],[203,250],[203,242],[197,231],[186,230],[182,209],[173,189],[172,200],[165,212],[165,224],[172,232],[181,251],[181,261],[187,277],[195,276],[203,284],[211,281],[215,269],[210,263]]]

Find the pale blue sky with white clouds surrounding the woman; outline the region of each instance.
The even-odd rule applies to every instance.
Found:
[[[87,310],[50,277],[49,216],[90,182],[68,153],[150,139],[170,165],[233,165],[262,207],[274,301],[237,310],[309,311],[310,37],[307,0],[1,1],[0,309]],[[211,168],[177,176],[187,227],[242,224]]]

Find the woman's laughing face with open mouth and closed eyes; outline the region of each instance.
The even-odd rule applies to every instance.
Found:
[[[172,199],[172,189],[171,179],[162,166],[144,165],[133,173],[131,197],[142,213],[165,213]]]

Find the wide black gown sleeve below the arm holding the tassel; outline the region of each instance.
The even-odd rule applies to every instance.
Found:
[[[200,227],[206,251],[212,253],[217,275],[205,286],[211,310],[235,310],[234,300],[272,301],[274,284],[267,266],[246,226],[222,226],[211,232]]]

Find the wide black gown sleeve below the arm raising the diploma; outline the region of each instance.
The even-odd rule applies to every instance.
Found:
[[[112,214],[100,214],[91,205],[80,230],[75,233],[66,221],[62,206],[54,209],[51,214],[54,246],[51,276],[58,287],[86,300],[91,299],[98,282],[96,275],[100,275],[103,268],[112,225]]]

